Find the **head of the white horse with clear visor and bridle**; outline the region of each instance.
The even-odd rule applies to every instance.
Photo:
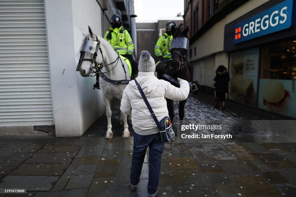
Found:
[[[89,27],[89,26],[88,26]],[[83,77],[91,76],[102,66],[104,56],[100,45],[100,40],[89,27],[89,33],[83,32],[84,38],[80,47],[80,58],[76,68]],[[100,37],[99,37],[100,38]],[[99,62],[99,63],[98,63]]]

